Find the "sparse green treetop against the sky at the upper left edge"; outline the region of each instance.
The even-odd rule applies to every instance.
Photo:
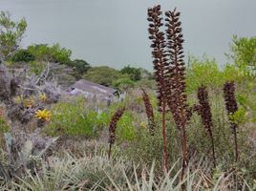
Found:
[[[0,61],[7,60],[20,47],[27,29],[27,22],[22,18],[18,22],[11,21],[11,13],[0,12]]]

